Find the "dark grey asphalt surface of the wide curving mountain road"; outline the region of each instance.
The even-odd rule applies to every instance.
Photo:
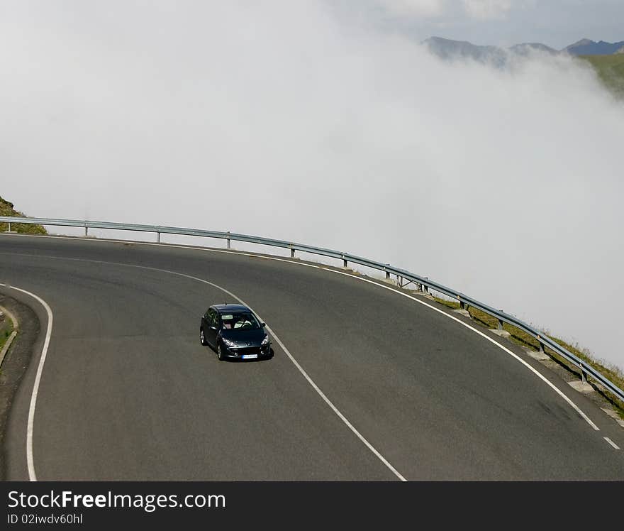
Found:
[[[0,282],[54,315],[34,417],[38,479],[398,479],[277,343],[252,363],[201,346],[201,314],[235,301],[169,272],[251,305],[408,480],[624,478],[624,451],[604,439],[624,448],[624,430],[598,407],[503,343],[600,431],[498,346],[393,290],[248,253],[1,235]],[[9,479],[28,478],[39,357],[9,419]]]

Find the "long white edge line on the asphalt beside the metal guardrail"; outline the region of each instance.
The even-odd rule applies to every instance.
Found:
[[[32,238],[40,238],[42,236],[30,235],[30,237],[32,237]],[[97,240],[93,240],[93,239],[89,240],[89,239],[80,238],[80,237],[74,237],[74,236],[45,236],[45,238],[69,239],[69,240],[79,239],[79,240],[87,240],[87,241],[97,241]],[[117,242],[120,242],[120,243],[128,243],[126,240],[108,239],[107,241],[117,241]],[[255,258],[266,258],[267,260],[274,260],[274,261],[278,261],[278,262],[286,262],[286,263],[291,263],[291,264],[295,264],[295,265],[306,265],[309,268],[322,269],[322,270],[325,270],[325,271],[330,271],[331,273],[337,273],[338,275],[345,275],[345,276],[348,276],[348,277],[351,277],[351,278],[356,278],[357,280],[362,280],[362,282],[367,282],[367,283],[370,283],[370,284],[374,284],[374,285],[378,286],[379,288],[384,288],[386,290],[390,290],[390,291],[396,293],[397,295],[403,295],[403,297],[408,297],[408,299],[414,300],[414,301],[418,302],[421,305],[425,305],[425,306],[429,307],[431,310],[435,310],[435,312],[438,312],[438,313],[444,315],[445,317],[448,317],[449,319],[453,319],[455,322],[458,322],[459,324],[462,324],[462,326],[466,327],[469,330],[472,330],[472,332],[475,332],[476,334],[479,334],[479,336],[484,337],[484,339],[487,339],[491,343],[493,343],[496,346],[498,346],[498,348],[500,348],[503,351],[505,351],[507,354],[509,354],[510,356],[515,358],[517,361],[522,363],[530,371],[535,373],[535,376],[537,376],[537,378],[540,378],[540,380],[542,380],[544,383],[549,385],[550,388],[552,388],[552,390],[554,390],[555,393],[557,393],[561,398],[563,398],[563,400],[565,400],[569,404],[569,406],[572,407],[572,409],[574,409],[579,415],[581,415],[581,417],[592,428],[594,428],[597,432],[600,431],[600,428],[598,426],[596,426],[596,424],[594,424],[594,422],[581,410],[581,408],[579,406],[577,406],[574,402],[572,402],[572,400],[570,398],[568,398],[562,392],[562,390],[557,388],[557,386],[554,383],[550,382],[547,378],[545,378],[545,376],[542,376],[540,371],[537,371],[537,369],[535,369],[532,366],[530,366],[529,363],[527,363],[522,358],[520,358],[519,356],[514,354],[511,350],[506,348],[506,346],[501,345],[500,343],[498,343],[498,341],[495,341],[494,339],[492,339],[491,337],[487,336],[486,334],[484,334],[480,330],[472,327],[470,324],[468,324],[466,322],[463,322],[461,319],[457,319],[457,317],[455,317],[453,315],[450,315],[450,314],[447,314],[447,312],[444,312],[444,311],[440,310],[439,308],[436,308],[435,306],[428,304],[428,302],[425,302],[423,300],[419,300],[418,298],[413,297],[412,295],[408,295],[408,293],[400,292],[398,290],[395,290],[394,288],[391,288],[390,286],[385,286],[385,285],[380,284],[379,282],[375,282],[374,280],[369,280],[367,278],[362,278],[359,275],[354,275],[352,273],[347,273],[345,271],[338,271],[338,270],[335,270],[335,269],[330,269],[330,268],[324,267],[323,265],[314,265],[314,264],[311,264],[311,263],[302,263],[302,262],[295,261],[295,260],[289,260],[287,258],[277,258],[275,256],[262,256],[262,255],[259,255],[257,253],[249,253],[247,251],[228,251],[228,250],[225,250],[225,249],[211,249],[211,248],[205,248],[205,247],[199,247],[199,246],[186,246],[186,245],[177,244],[177,243],[164,243],[163,244],[163,243],[152,243],[150,241],[133,241],[132,243],[138,243],[140,245],[148,245],[148,246],[171,246],[171,247],[177,247],[177,248],[191,249],[191,250],[194,250],[194,251],[198,251],[198,250],[199,251],[207,251],[207,252],[212,252],[212,253],[225,253],[225,254],[238,254],[238,255],[243,254],[243,255],[252,256],[252,257],[255,257]],[[126,264],[122,264],[122,265],[126,265]]]

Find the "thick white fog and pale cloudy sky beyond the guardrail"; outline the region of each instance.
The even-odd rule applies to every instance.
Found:
[[[393,263],[624,367],[624,105],[416,44],[623,40],[618,4],[3,0],[0,195]]]

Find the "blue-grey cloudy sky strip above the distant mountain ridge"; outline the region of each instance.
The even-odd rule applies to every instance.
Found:
[[[365,18],[423,40],[474,44],[540,42],[557,50],[581,38],[624,40],[622,0],[338,0],[345,16]]]

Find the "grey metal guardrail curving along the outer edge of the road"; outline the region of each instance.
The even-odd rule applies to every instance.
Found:
[[[303,253],[311,253],[317,254],[320,256],[328,256],[330,258],[338,258],[342,260],[342,265],[347,267],[347,263],[357,263],[359,265],[365,265],[366,267],[377,269],[380,271],[384,271],[386,273],[386,278],[390,278],[390,275],[396,275],[397,279],[399,279],[399,285],[408,285],[410,283],[414,283],[418,286],[418,290],[428,292],[428,290],[434,290],[440,292],[447,297],[451,297],[459,302],[459,307],[467,310],[468,307],[477,308],[486,314],[490,314],[493,317],[498,319],[498,329],[503,328],[503,322],[511,324],[513,327],[516,327],[523,332],[526,332],[530,336],[533,336],[540,344],[540,351],[544,351],[545,346],[547,346],[552,351],[555,351],[557,354],[567,359],[570,363],[573,363],[581,370],[581,377],[583,380],[586,380],[586,377],[589,375],[594,378],[595,381],[601,383],[606,389],[610,390],[615,396],[617,396],[620,400],[624,402],[624,391],[618,388],[615,383],[611,382],[603,376],[601,373],[596,371],[594,367],[586,363],[586,361],[572,354],[572,352],[564,349],[563,346],[557,344],[555,341],[547,337],[546,334],[540,332],[540,330],[535,329],[530,326],[530,324],[526,324],[520,319],[513,317],[502,310],[496,310],[495,308],[484,304],[483,302],[479,302],[472,297],[464,295],[462,292],[458,292],[453,290],[452,288],[447,288],[447,286],[442,285],[440,283],[434,282],[433,280],[429,280],[428,277],[422,277],[420,275],[416,275],[414,273],[410,273],[407,270],[399,269],[391,266],[388,263],[380,263],[376,261],[369,260],[368,258],[362,258],[362,256],[355,256],[350,253],[345,253],[343,251],[333,251],[332,249],[325,249],[322,247],[314,247],[309,245],[304,245],[302,243],[294,243],[291,241],[284,240],[276,240],[270,238],[262,238],[260,236],[250,236],[248,234],[236,234],[233,232],[221,232],[221,231],[204,231],[200,229],[186,229],[183,227],[174,227],[174,226],[161,226],[161,225],[140,225],[140,224],[130,224],[130,223],[111,223],[108,221],[83,221],[77,219],[47,219],[47,218],[25,218],[25,217],[8,217],[8,216],[0,216],[0,223],[8,223],[9,231],[11,231],[11,224],[38,224],[38,225],[48,225],[48,226],[75,226],[84,228],[84,235],[87,236],[89,234],[89,229],[113,229],[113,230],[121,230],[121,231],[140,231],[140,232],[153,232],[157,235],[157,242],[160,243],[160,235],[161,234],[182,234],[184,236],[202,236],[204,238],[217,238],[217,239],[225,239],[227,241],[228,249],[231,248],[231,241],[246,241],[248,243],[258,243],[260,245],[267,245],[273,247],[282,247],[289,248],[291,258],[295,257],[295,251],[301,251]],[[403,280],[407,280],[406,284],[403,284]]]

